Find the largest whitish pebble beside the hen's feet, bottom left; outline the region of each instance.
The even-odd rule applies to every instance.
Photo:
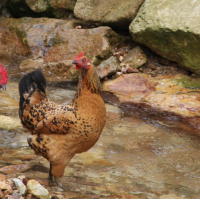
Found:
[[[27,183],[28,193],[36,196],[39,199],[50,199],[49,192],[46,188],[40,185],[36,180],[31,179]]]

